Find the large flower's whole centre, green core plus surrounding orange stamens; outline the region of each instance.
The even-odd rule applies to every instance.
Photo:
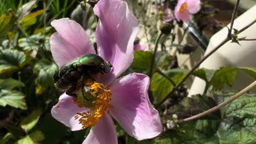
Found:
[[[109,104],[111,101],[110,89],[104,86],[103,83],[89,79],[84,84],[84,88],[81,85],[77,86],[78,97],[73,98],[73,103],[77,104],[78,107],[89,108],[89,110],[82,113],[77,113],[74,117],[83,125],[83,129],[96,125],[104,117],[105,112],[109,113],[109,109],[113,107]]]

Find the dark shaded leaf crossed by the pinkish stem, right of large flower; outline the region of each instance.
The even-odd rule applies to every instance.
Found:
[[[206,95],[193,95],[192,98],[185,98],[180,104],[174,105],[167,110],[166,116],[176,114],[178,119],[187,118],[211,109],[217,103]],[[215,111],[210,115],[179,123],[178,127],[167,130],[156,138],[156,143],[219,143],[216,132],[220,124],[220,111]]]

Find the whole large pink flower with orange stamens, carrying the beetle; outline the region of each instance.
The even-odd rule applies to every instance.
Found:
[[[91,83],[90,86],[100,86],[106,105],[101,105],[103,108],[100,115],[97,115],[100,119],[92,121],[86,119],[89,108],[81,106],[73,97],[64,93],[51,110],[53,117],[71,130],[92,126],[83,143],[118,143],[112,117],[127,134],[137,140],[158,136],[162,125],[158,111],[152,107],[148,98],[149,77],[132,73],[117,79],[133,61],[133,42],[138,33],[138,20],[126,2],[120,0],[101,0],[95,5],[94,13],[99,18],[96,28],[98,55],[109,61],[113,68],[110,73],[103,75],[101,83]],[[74,58],[95,53],[88,35],[77,22],[60,19],[54,20],[51,25],[57,31],[50,38],[51,52],[59,67]],[[98,110],[98,107],[94,108]],[[96,113],[92,114],[96,116]]]

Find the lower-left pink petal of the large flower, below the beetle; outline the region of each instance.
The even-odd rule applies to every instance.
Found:
[[[73,103],[72,98],[73,97],[66,93],[62,94],[59,98],[59,102],[51,109],[51,115],[57,119],[57,121],[71,128],[71,130],[81,130],[82,125],[79,124],[78,119],[74,119],[74,116],[77,115],[78,112],[85,111],[86,108],[79,108]]]

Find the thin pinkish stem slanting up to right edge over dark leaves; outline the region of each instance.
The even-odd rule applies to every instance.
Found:
[[[249,86],[247,86],[246,88],[242,89],[242,91],[236,93],[235,95],[233,95],[231,98],[229,98],[228,100],[224,101],[223,103],[213,107],[212,109],[209,109],[207,111],[204,111],[202,113],[199,113],[198,115],[195,115],[195,116],[192,116],[192,117],[189,117],[189,118],[185,118],[185,119],[182,119],[181,121],[178,121],[177,123],[183,123],[183,122],[188,122],[188,121],[191,121],[193,119],[196,119],[196,118],[200,118],[202,116],[205,116],[207,115],[208,113],[211,113],[213,111],[216,111],[216,110],[219,110],[220,108],[222,108],[223,106],[229,104],[231,101],[235,100],[236,98],[240,97],[242,94],[248,92],[250,89],[252,89],[254,86],[256,86],[256,81],[254,81],[253,83],[251,83]]]

